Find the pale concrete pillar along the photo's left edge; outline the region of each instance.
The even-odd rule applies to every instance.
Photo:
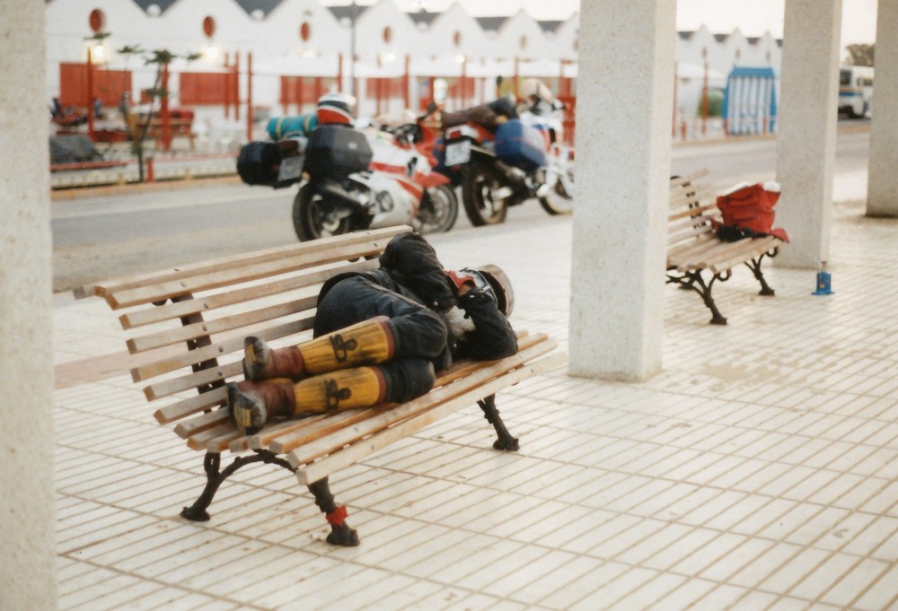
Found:
[[[10,0],[4,9],[6,17],[0,20],[0,337],[4,345],[0,607],[43,610],[56,608],[44,3]]]

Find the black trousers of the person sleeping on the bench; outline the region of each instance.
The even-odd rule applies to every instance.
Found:
[[[318,304],[314,336],[385,316],[393,338],[393,358],[377,366],[386,380],[388,403],[404,403],[433,388],[433,362],[443,354],[446,327],[436,312],[361,276],[341,280]]]

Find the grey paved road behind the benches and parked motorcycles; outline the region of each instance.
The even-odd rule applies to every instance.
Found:
[[[869,134],[843,132],[837,172],[863,172]],[[776,141],[752,139],[674,148],[674,173],[709,168],[717,187],[742,180],[773,179]],[[122,194],[124,193],[124,195]],[[178,266],[234,252],[295,243],[290,221],[295,188],[247,187],[233,179],[203,187],[177,188],[57,199],[52,205],[53,288],[75,286],[162,266]],[[509,229],[540,223],[545,213],[535,201],[508,213]],[[459,214],[452,233],[477,231]]]

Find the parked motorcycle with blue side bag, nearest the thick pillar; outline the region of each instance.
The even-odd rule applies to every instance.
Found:
[[[570,214],[574,150],[561,144],[564,109],[538,98],[519,114],[497,113],[495,128],[477,120],[445,128],[441,161],[445,171],[462,175],[462,203],[471,224],[502,223],[508,206],[533,198],[548,214]]]

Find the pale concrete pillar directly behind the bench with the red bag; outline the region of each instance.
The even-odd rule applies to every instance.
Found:
[[[786,0],[779,106],[777,265],[815,267],[830,250],[841,0]]]

